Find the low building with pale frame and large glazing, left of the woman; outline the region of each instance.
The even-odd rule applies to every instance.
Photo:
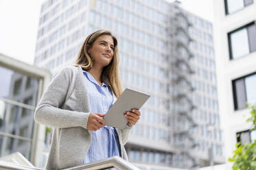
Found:
[[[0,54],[0,157],[19,151],[39,165],[45,127],[34,123],[34,109],[51,74]]]

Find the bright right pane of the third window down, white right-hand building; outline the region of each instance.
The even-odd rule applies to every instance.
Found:
[[[248,104],[255,104],[256,103],[256,74],[250,75],[245,78],[246,84],[246,97]]]

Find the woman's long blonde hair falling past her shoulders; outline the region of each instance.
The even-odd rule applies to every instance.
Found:
[[[120,82],[120,77],[118,74],[118,63],[119,63],[119,54],[118,54],[118,40],[115,36],[111,34],[108,30],[100,29],[92,34],[89,34],[83,42],[83,46],[81,47],[78,56],[76,58],[76,62],[74,66],[81,66],[83,70],[89,71],[94,66],[94,61],[91,56],[88,54],[88,49],[92,47],[94,41],[102,35],[109,35],[113,38],[114,41],[114,57],[112,58],[109,65],[105,66],[103,69],[103,73],[101,76],[104,79],[107,79],[109,82],[109,86],[113,91],[116,97],[119,97],[122,93],[122,86]]]

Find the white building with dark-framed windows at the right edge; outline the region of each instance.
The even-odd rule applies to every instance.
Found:
[[[256,140],[246,119],[256,102],[256,5],[253,0],[214,1],[215,51],[226,161],[237,142]],[[243,135],[241,135],[243,133]]]

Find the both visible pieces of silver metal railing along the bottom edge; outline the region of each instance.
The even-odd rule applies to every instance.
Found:
[[[97,162],[92,162],[89,164],[72,167],[64,170],[100,170],[100,169],[110,169],[110,168],[116,168],[120,170],[140,170],[138,167],[135,167],[130,162],[127,162],[126,160],[114,156],[111,158],[107,158],[105,160],[99,160]],[[0,161],[0,169],[1,170],[43,170],[35,167],[25,167],[23,165],[15,165],[10,162],[3,162]]]

